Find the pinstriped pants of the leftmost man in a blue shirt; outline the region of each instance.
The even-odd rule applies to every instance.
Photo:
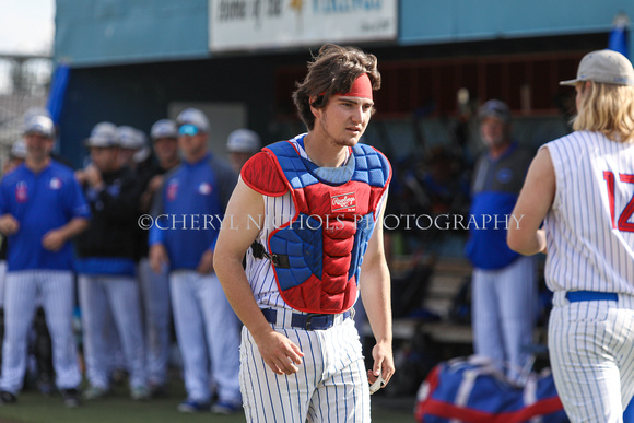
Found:
[[[52,365],[60,389],[81,383],[72,333],[74,279],[71,271],[22,270],[7,273],[4,344],[0,389],[16,393],[26,371],[26,337],[36,305],[42,303],[52,343]]]

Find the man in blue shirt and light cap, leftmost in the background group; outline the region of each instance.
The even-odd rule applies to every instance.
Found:
[[[0,232],[9,242],[1,403],[15,402],[22,388],[26,334],[39,301],[52,341],[56,384],[67,407],[79,406],[70,239],[86,228],[90,210],[72,171],[50,158],[54,137],[50,118],[27,119],[26,160],[0,184]]]

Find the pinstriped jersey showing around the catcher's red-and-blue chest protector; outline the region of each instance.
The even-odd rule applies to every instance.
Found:
[[[304,136],[305,134],[297,136],[290,141],[293,143],[293,145],[295,145],[302,157],[310,160],[304,151],[302,144],[298,142],[298,140]],[[324,177],[322,174],[320,176]],[[383,203],[387,198],[386,193],[387,189],[378,202],[377,210],[381,209]],[[286,192],[281,197],[262,197],[265,198],[265,223],[262,224],[262,228],[256,240],[263,245],[267,252],[269,252],[267,245],[269,235],[273,230],[275,230],[275,227],[280,227],[295,215],[295,204],[293,203],[293,198],[291,197],[290,192]],[[254,222],[249,223],[254,224]],[[379,223],[377,222],[377,224]],[[293,309],[290,305],[286,304],[286,302],[284,302],[284,299],[282,299],[282,296],[280,295],[271,261],[267,259],[254,258],[251,248],[247,250],[245,272],[247,274],[247,279],[249,280],[256,303],[258,303],[260,308],[279,307],[290,310]],[[361,279],[362,278],[360,275],[360,282]]]

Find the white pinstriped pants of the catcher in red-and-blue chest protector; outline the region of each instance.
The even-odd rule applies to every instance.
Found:
[[[300,346],[304,357],[297,373],[277,375],[243,328],[240,389],[248,422],[371,421],[367,373],[352,318],[327,330],[272,327]]]

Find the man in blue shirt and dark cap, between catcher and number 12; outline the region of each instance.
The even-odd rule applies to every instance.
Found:
[[[507,225],[532,154],[510,139],[510,111],[497,99],[479,110],[480,133],[488,151],[476,164],[467,255],[473,265],[472,324],[476,354],[514,368],[528,359],[537,316],[533,257],[523,257],[506,245]],[[516,216],[520,219],[520,216]],[[489,222],[489,223],[485,223]]]

